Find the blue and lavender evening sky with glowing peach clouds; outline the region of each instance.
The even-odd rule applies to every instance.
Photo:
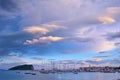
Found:
[[[120,0],[0,0],[0,68],[77,60],[120,65]]]

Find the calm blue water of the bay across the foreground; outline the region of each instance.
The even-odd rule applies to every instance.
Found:
[[[27,71],[28,72],[28,71]],[[62,73],[62,74],[24,74],[25,71],[0,71],[0,80],[116,80],[120,73]]]

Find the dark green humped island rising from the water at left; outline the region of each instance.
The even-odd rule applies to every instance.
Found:
[[[33,65],[18,65],[12,68],[9,68],[8,70],[34,70]]]

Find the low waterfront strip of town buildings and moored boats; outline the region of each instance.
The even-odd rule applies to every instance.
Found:
[[[52,70],[45,70],[41,69],[41,73],[62,73],[62,72],[73,72],[75,74],[79,72],[101,72],[101,73],[120,73],[120,67],[96,67],[96,66],[91,66],[91,67],[79,67],[78,69],[57,69],[54,68]]]

